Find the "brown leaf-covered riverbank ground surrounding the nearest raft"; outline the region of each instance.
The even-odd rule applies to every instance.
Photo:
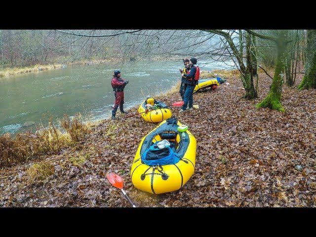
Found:
[[[256,100],[239,99],[240,79],[229,78],[230,85],[194,95],[198,110],[172,109],[197,138],[195,173],[179,191],[152,195],[133,187],[131,162],[156,124],[122,119],[118,112],[120,119],[102,121],[76,147],[45,158],[53,167],[45,180],[30,177],[35,161],[2,168],[0,206],[129,206],[108,182],[108,172],[123,178],[125,191],[141,207],[315,206],[316,91],[284,85],[285,113],[256,109],[271,84],[265,74],[259,76]],[[181,100],[179,93],[159,99]]]

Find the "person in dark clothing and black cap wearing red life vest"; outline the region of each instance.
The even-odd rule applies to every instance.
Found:
[[[189,61],[189,64],[191,65],[191,69],[188,74],[182,74],[182,77],[186,78],[185,84],[186,84],[186,90],[184,93],[184,104],[179,112],[184,112],[187,109],[187,106],[189,105],[189,110],[193,109],[193,91],[195,86],[197,85],[197,80],[195,80],[195,75],[197,72],[197,68],[194,66],[197,64],[196,58],[191,58]]]

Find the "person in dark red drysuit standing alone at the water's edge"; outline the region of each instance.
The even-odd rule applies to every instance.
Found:
[[[113,78],[111,80],[111,85],[115,95],[115,105],[112,110],[112,119],[115,119],[115,115],[118,110],[118,105],[119,105],[119,110],[120,113],[122,114],[128,114],[123,110],[123,104],[124,104],[124,87],[125,85],[128,84],[128,80],[124,80],[120,77],[120,72],[118,70],[114,71]]]

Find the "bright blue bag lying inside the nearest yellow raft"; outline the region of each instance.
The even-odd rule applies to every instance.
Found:
[[[178,163],[180,158],[177,153],[175,153],[170,146],[165,146],[159,149],[157,143],[155,142],[150,146],[142,155],[142,162],[147,165],[165,165],[165,164],[175,164]]]

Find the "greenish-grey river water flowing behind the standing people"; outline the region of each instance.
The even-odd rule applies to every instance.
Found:
[[[198,65],[206,71],[229,68],[223,63]],[[124,109],[170,89],[180,80],[182,67],[181,60],[121,66],[121,77],[129,80]],[[47,126],[49,117],[57,124],[64,114],[72,117],[80,113],[91,121],[108,118],[114,105],[111,79],[115,69],[113,65],[92,64],[1,78],[0,135],[35,131],[40,123]]]

